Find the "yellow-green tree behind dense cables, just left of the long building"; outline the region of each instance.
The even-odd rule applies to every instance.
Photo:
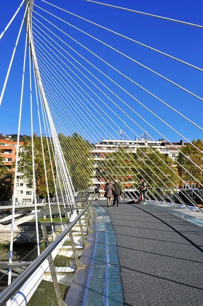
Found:
[[[92,145],[78,133],[71,136],[59,134],[59,141],[74,189],[87,189],[92,184],[94,170],[94,160],[90,153]]]

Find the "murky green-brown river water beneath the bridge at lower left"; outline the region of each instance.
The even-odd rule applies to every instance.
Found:
[[[44,244],[40,246],[40,252],[44,250]],[[34,246],[14,246],[13,249],[13,262],[18,261],[28,261],[32,262],[37,257],[37,248]],[[9,261],[9,247],[0,246],[0,261],[7,262]],[[55,259],[56,266],[72,266],[73,260],[69,258],[64,258],[61,256],[57,256]],[[16,278],[21,272],[23,272],[24,268],[15,268],[13,269],[13,277]],[[8,284],[8,274],[3,276],[8,270],[0,270],[0,292],[2,292]],[[1,278],[3,277],[3,278]],[[64,291],[67,286],[59,285],[61,290],[61,295],[63,297]],[[27,304],[28,306],[55,306],[56,296],[54,292],[54,286],[51,282],[42,281],[32,296],[31,300]]]

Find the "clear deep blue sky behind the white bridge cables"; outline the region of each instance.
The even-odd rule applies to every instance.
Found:
[[[18,5],[21,1],[11,0],[10,2],[3,2],[0,11],[0,33],[6,27],[8,21],[14,14]],[[109,0],[104,1],[111,5],[123,6],[126,8],[131,8],[139,11],[144,11],[152,14],[162,15],[174,19],[179,19],[183,21],[188,21],[191,23],[202,24],[202,13],[203,13],[203,4],[201,1],[193,1],[192,5],[189,1],[170,1],[163,2],[161,0],[145,0],[145,1],[133,1],[133,0]],[[182,25],[178,23],[173,23],[165,20],[160,20],[152,17],[142,16],[130,12],[124,12],[121,10],[107,8],[104,6],[99,6],[96,4],[87,3],[82,0],[50,0],[50,3],[56,4],[59,7],[62,7],[66,10],[69,10],[72,13],[78,14],[82,17],[85,17],[91,21],[102,24],[103,26],[114,30],[118,33],[121,33],[125,36],[131,37],[137,41],[148,44],[151,47],[157,48],[162,52],[168,53],[174,57],[180,58],[186,62],[189,62],[195,66],[203,68],[203,59],[202,59],[202,29],[197,29],[194,27],[189,27],[187,25]],[[112,47],[118,49],[120,52],[132,57],[136,61],[142,63],[143,65],[148,66],[150,69],[156,70],[158,73],[163,74],[166,78],[172,80],[173,82],[180,84],[186,89],[194,92],[195,94],[203,97],[202,94],[202,72],[197,71],[191,67],[185,66],[181,63],[178,63],[172,59],[168,59],[165,56],[159,55],[155,53],[153,50],[148,50],[142,46],[139,46],[133,42],[129,42],[123,38],[119,38],[118,36],[111,34],[105,30],[98,29],[94,25],[87,23],[86,21],[80,20],[77,17],[71,16],[65,12],[57,10],[56,8],[50,7],[49,5],[41,2],[40,0],[35,0],[35,4],[40,7],[56,14],[60,18],[70,22],[90,35],[95,36],[96,38],[110,44]],[[54,22],[59,28],[68,33],[74,39],[78,40],[80,43],[84,44],[86,47],[92,50],[99,57],[103,58],[105,61],[113,65],[116,69],[127,75],[129,78],[133,79],[135,82],[139,83],[141,86],[145,87],[147,90],[151,91],[153,94],[157,95],[159,98],[163,99],[167,104],[171,107],[175,108],[177,111],[183,113],[189,119],[202,126],[202,101],[198,100],[195,97],[183,92],[183,90],[176,88],[175,86],[169,84],[168,82],[162,80],[155,74],[147,71],[146,69],[140,67],[136,63],[133,63],[129,59],[124,58],[118,53],[114,52],[107,46],[96,42],[94,39],[87,37],[85,34],[80,33],[78,30],[75,30],[69,25],[64,24],[63,22],[57,20],[56,18],[42,12],[37,7],[34,10],[40,14],[42,14],[48,20]],[[20,22],[23,16],[23,9],[20,10],[19,14],[15,18],[9,30],[6,32],[2,40],[0,41],[0,90],[2,90],[2,86],[4,83],[6,71],[8,69],[9,61],[11,58],[12,50],[15,44],[15,40],[17,37],[17,33],[20,27]],[[46,26],[44,20],[42,20],[36,13],[33,14],[35,18],[39,21],[43,22]],[[36,24],[39,25],[38,21],[33,19]],[[77,43],[73,42],[71,39],[67,38],[67,36],[61,34],[59,31],[54,30],[52,26],[49,26],[61,39],[63,39],[66,43],[68,43],[72,48],[77,50],[78,53],[83,55],[87,60],[89,60],[92,64],[94,64],[98,69],[102,70],[106,73],[110,78],[112,78],[116,83],[122,86],[126,91],[128,91],[131,95],[133,95],[136,99],[138,99],[142,104],[148,107],[151,111],[160,116],[163,120],[165,120],[168,124],[170,124],[175,130],[179,131],[182,135],[184,135],[189,140],[193,138],[201,138],[202,132],[197,129],[192,124],[188,123],[185,119],[181,118],[179,115],[175,114],[167,107],[163,106],[158,100],[151,97],[143,90],[139,89],[136,85],[132,84],[128,80],[121,77],[118,73],[109,68],[106,64],[102,63],[100,60],[96,59],[93,55],[91,55],[87,50],[79,46]],[[34,26],[36,30],[38,28]],[[43,40],[42,36],[38,34],[34,30],[34,37],[36,43],[36,52],[37,55],[41,57],[42,53],[40,51],[41,43],[40,39],[35,36],[38,35]],[[40,30],[38,30],[41,32]],[[22,77],[22,63],[23,63],[23,50],[24,50],[24,42],[25,42],[25,33],[24,28],[19,40],[19,45],[16,50],[16,56],[14,60],[14,64],[11,70],[11,75],[9,77],[8,86],[5,91],[5,97],[2,102],[2,106],[0,107],[0,132],[7,134],[16,134],[17,133],[17,122],[18,122],[18,113],[19,113],[19,101],[20,101],[20,87],[21,87],[21,77]],[[48,33],[46,31],[46,33]],[[41,32],[42,34],[42,32]],[[50,35],[50,34],[49,34]],[[52,36],[54,38],[54,36]],[[56,39],[56,38],[55,38]],[[43,45],[43,43],[42,43]],[[63,45],[63,44],[61,44]],[[64,47],[64,45],[63,45]],[[128,94],[124,93],[121,89],[119,89],[116,85],[112,84],[111,81],[107,80],[104,75],[100,74],[94,68],[92,68],[87,62],[82,60],[79,56],[75,55],[74,52],[66,48],[66,50],[84,67],[86,67],[91,73],[93,73],[100,81],[104,82],[104,84],[109,87],[116,95],[118,95],[121,99],[125,101],[133,110],[135,110],[138,114],[140,114],[147,122],[151,125],[155,126],[155,128],[161,132],[165,137],[167,137],[170,141],[179,141],[181,139],[180,135],[177,135],[171,129],[166,127],[160,120],[155,118],[149,112],[144,110],[142,106],[140,106],[134,99],[132,99]],[[64,55],[65,53],[62,52]],[[53,55],[56,59],[56,56]],[[72,61],[73,62],[73,61]],[[41,62],[42,63],[42,62]],[[68,64],[68,62],[67,62]],[[75,63],[74,63],[75,64]],[[69,64],[68,64],[69,65]],[[78,68],[81,69],[80,65],[75,64]],[[67,67],[62,64],[65,70],[68,71]],[[71,66],[71,65],[69,65]],[[71,66],[72,67],[72,66]],[[42,79],[43,79],[43,66],[40,66]],[[75,73],[77,72],[80,78],[88,84],[88,86],[97,94],[106,104],[109,105],[111,110],[113,110],[121,119],[123,119],[123,113],[117,109],[115,105],[111,103],[111,101],[101,94],[87,79],[80,74],[77,69],[72,68]],[[84,73],[85,70],[81,69]],[[50,71],[52,72],[52,71]],[[106,107],[103,102],[99,100],[87,87],[83,85],[79,79],[75,78],[72,72],[68,72],[79,84],[83,87],[84,90],[92,97],[95,101],[94,104],[92,100],[86,96],[87,100],[90,104],[94,105],[96,110],[99,110],[99,107],[102,108],[111,119],[122,129],[124,130],[124,124],[120,122],[120,120]],[[124,112],[126,112],[137,124],[139,124],[144,130],[147,131],[155,139],[162,138],[157,132],[155,132],[151,127],[147,125],[147,123],[143,122],[133,111],[131,111],[128,107],[124,106],[122,102],[117,99],[112,93],[110,93],[107,89],[101,86],[90,74],[86,73],[87,76],[95,82],[99,88],[101,88],[109,97],[113,99],[115,104],[117,104]],[[54,77],[54,74],[52,75]],[[55,79],[56,77],[54,77]],[[69,78],[69,77],[68,77]],[[48,79],[47,80],[53,80]],[[51,99],[49,96],[49,87],[46,85],[44,79],[44,88],[45,93],[47,93],[48,101]],[[51,81],[51,86],[54,89],[53,92],[56,93],[57,85],[53,84]],[[70,85],[73,89],[73,86]],[[78,85],[76,86],[77,88]],[[79,124],[82,121],[83,126],[85,127],[85,135],[89,136],[90,139],[99,140],[101,138],[100,135],[104,135],[104,138],[112,138],[111,136],[118,138],[114,130],[118,131],[117,126],[114,126],[114,130],[107,124],[107,122],[100,118],[98,114],[93,110],[93,108],[87,103],[80,94],[84,107],[89,108],[90,111],[95,114],[97,118],[97,123],[99,126],[96,126],[94,121],[89,117],[88,110],[87,113],[84,111],[83,107],[75,101],[75,107],[78,107],[79,114],[74,110],[74,108],[70,105],[70,100],[67,99],[67,105],[69,114],[72,114],[73,121],[71,124],[68,123],[68,117],[64,112],[64,123],[57,118],[54,118],[54,121],[57,126],[57,131],[63,132],[65,129],[64,125],[67,126],[67,131],[74,132],[78,131],[80,133]],[[55,96],[54,104],[57,106],[58,100]],[[53,112],[53,111],[52,111]],[[57,107],[57,112],[62,113],[63,110]],[[92,129],[94,130],[93,136],[91,136],[92,132],[89,128],[89,123],[87,119],[90,120],[93,124]],[[53,113],[54,115],[54,113]],[[106,117],[107,118],[107,117]],[[81,120],[81,121],[80,121]],[[110,119],[107,118],[107,121],[112,124]],[[125,117],[126,124],[130,126],[130,128],[137,133],[141,134],[141,129],[130,119],[128,116]],[[79,124],[77,124],[77,122]],[[74,128],[72,127],[74,124]],[[106,127],[108,132],[104,133],[104,128],[102,124]],[[60,127],[61,125],[61,127]],[[98,128],[98,131],[96,130]],[[39,124],[37,121],[37,113],[36,113],[36,105],[34,98],[34,131],[39,133]],[[64,130],[65,132],[65,130]],[[23,98],[23,110],[22,110],[22,123],[21,123],[21,134],[31,134],[30,127],[30,98],[29,98],[29,69],[28,62],[26,67],[26,82],[25,82],[25,91]],[[126,134],[131,139],[135,138],[135,134],[126,127]]]

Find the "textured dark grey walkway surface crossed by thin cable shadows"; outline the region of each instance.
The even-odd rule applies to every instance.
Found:
[[[114,227],[125,305],[203,304],[202,227],[151,204],[98,202]]]

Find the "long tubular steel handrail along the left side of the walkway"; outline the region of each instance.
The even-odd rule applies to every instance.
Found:
[[[90,191],[90,190],[88,190]],[[91,189],[91,191],[93,191]],[[0,293],[0,306],[4,306],[6,302],[12,298],[17,290],[27,281],[27,279],[36,271],[36,269],[44,262],[50,253],[57,247],[57,245],[66,237],[72,227],[81,219],[84,213],[87,211],[92,201],[94,200],[94,194],[92,199],[86,206],[86,208],[65,228],[59,237],[56,238],[47,248],[37,257],[30,266],[24,270],[2,293]]]

